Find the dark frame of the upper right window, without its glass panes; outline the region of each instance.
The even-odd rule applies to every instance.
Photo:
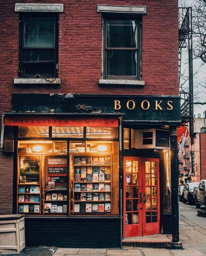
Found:
[[[120,79],[120,80],[142,80],[142,15],[103,15],[103,79]],[[137,47],[106,47],[106,21],[107,20],[135,20],[137,21]],[[137,51],[136,76],[108,76],[106,75],[106,51],[107,50],[135,50]]]

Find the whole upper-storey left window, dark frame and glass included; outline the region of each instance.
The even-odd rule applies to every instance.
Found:
[[[57,16],[20,17],[20,77],[57,77]]]

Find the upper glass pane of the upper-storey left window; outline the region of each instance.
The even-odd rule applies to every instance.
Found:
[[[54,47],[54,19],[25,20],[24,47]]]

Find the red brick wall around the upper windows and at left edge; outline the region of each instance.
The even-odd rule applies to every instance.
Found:
[[[59,17],[60,87],[13,85],[18,73],[19,14],[15,3],[63,3]],[[99,86],[102,71],[101,13],[97,4],[146,5],[143,15],[144,87]],[[178,95],[177,0],[1,0],[0,113],[10,111],[12,92]],[[0,212],[11,212],[13,158],[2,155]],[[9,184],[9,186],[8,186]],[[1,190],[2,191],[2,190]],[[2,204],[3,202],[3,204]]]

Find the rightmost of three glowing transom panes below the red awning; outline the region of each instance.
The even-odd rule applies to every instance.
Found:
[[[118,138],[118,128],[87,127],[87,138]]]

